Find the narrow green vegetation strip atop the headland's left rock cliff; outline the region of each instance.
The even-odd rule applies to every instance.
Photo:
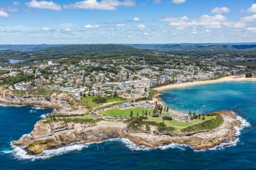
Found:
[[[62,116],[62,115],[55,115],[55,116],[48,116],[44,118],[43,123],[48,124],[49,122],[55,122],[55,121],[64,121],[65,124],[69,122],[75,122],[75,123],[92,123],[95,124],[98,121],[101,121],[102,119],[97,118],[91,114],[86,115],[72,115],[72,116]]]

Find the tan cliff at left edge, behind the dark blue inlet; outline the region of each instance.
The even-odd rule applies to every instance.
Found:
[[[0,87],[0,103],[17,105],[39,105],[55,108],[58,114],[84,114],[88,109],[80,106],[68,94],[52,94],[51,96],[14,95],[10,90]]]

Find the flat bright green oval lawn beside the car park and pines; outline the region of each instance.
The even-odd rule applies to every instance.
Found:
[[[113,108],[113,109],[108,109],[106,111],[101,112],[100,114],[106,115],[109,117],[130,117],[131,111],[133,111],[133,116],[137,116],[137,113],[139,113],[139,116],[142,116],[143,113],[147,111],[147,114],[151,113],[151,109],[146,109],[146,108],[127,108],[127,109],[120,109],[120,108]]]

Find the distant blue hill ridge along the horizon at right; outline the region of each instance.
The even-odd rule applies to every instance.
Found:
[[[256,43],[234,44],[127,44],[139,49],[151,50],[256,50]]]

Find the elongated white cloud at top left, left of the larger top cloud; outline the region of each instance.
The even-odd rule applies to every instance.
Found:
[[[54,11],[62,10],[60,5],[57,5],[56,3],[52,2],[52,1],[32,0],[30,2],[26,2],[26,5],[28,7],[32,7],[32,8],[48,9],[48,10],[54,10]]]

